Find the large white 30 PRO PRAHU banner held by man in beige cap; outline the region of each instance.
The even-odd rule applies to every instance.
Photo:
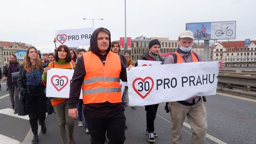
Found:
[[[218,62],[195,62],[131,68],[127,71],[129,105],[215,95],[219,66]]]

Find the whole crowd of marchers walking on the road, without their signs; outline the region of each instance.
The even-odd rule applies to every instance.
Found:
[[[153,39],[140,60],[158,61],[163,65],[202,62],[202,57],[191,51],[193,40],[191,31],[182,31],[178,37],[177,52],[163,59],[159,54],[161,44]],[[43,54],[44,60],[41,61],[41,54],[32,46],[27,49],[26,58],[21,65],[16,55],[11,55],[10,62],[5,62],[1,74],[4,80],[7,79],[14,114],[29,115],[34,135],[32,144],[39,142],[38,123],[41,125],[41,132],[47,132],[45,113],[52,107],[63,144],[75,144],[75,119],[78,119],[78,126],[84,126],[84,131],[90,134],[91,144],[105,144],[106,139],[110,144],[124,143],[127,128],[124,111],[129,105],[128,87],[125,86],[122,94],[120,80],[127,82],[126,68],[129,71],[137,63],[131,60],[129,50],[124,55],[119,51],[119,43],[111,43],[110,31],[101,27],[93,32],[89,51],[77,49],[75,52],[66,45],[56,47],[55,43],[55,53]],[[224,68],[225,63],[219,63],[220,68]],[[69,98],[46,97],[47,71],[51,68],[74,69]],[[83,99],[79,99],[80,89]],[[204,144],[207,122],[202,98],[193,96],[185,101],[169,102],[168,107],[171,117],[171,143],[182,144],[182,124],[187,116],[193,130],[191,144]],[[155,137],[158,136],[154,127],[157,109],[158,104],[145,106],[145,132],[149,142],[155,142]]]

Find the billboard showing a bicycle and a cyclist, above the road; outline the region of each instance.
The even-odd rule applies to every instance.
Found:
[[[194,33],[195,40],[235,39],[236,21],[187,23],[186,30]]]

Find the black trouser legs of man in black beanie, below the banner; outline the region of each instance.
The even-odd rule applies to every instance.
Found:
[[[147,118],[147,131],[154,132],[154,121],[155,121],[155,115],[157,115],[157,108],[159,104],[155,105],[145,105],[146,110],[146,118]]]

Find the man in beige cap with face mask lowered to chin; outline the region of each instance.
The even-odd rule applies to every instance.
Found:
[[[182,31],[179,35],[177,52],[165,58],[163,64],[202,62],[199,54],[191,51],[194,35],[191,31]],[[225,62],[219,61],[220,68]],[[187,115],[193,130],[191,144],[204,144],[206,139],[206,109],[200,96],[193,96],[185,101],[169,102],[171,115],[171,143],[182,144],[182,124]]]

